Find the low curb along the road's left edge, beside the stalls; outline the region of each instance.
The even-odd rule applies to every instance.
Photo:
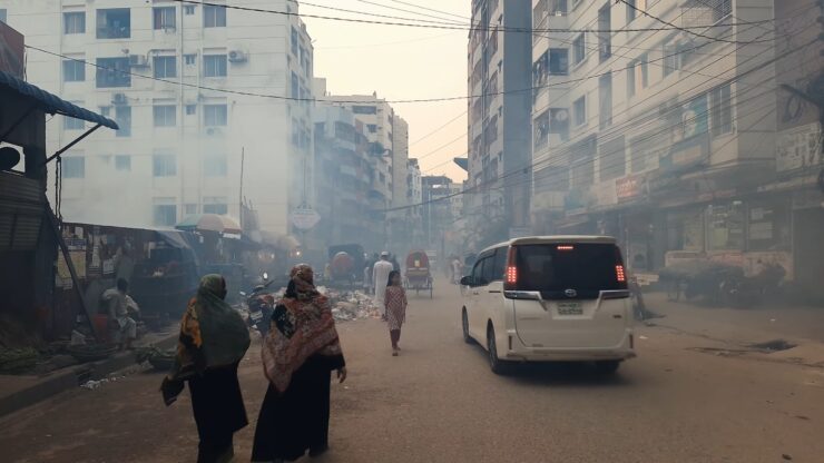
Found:
[[[151,345],[161,349],[171,348],[176,345],[177,337],[178,333],[170,333]],[[0,397],[0,417],[78,387],[89,380],[101,380],[114,372],[134,365],[135,362],[134,352],[121,352],[105,361],[75,365],[47,375],[28,388]]]

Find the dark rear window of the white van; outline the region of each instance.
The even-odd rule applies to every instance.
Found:
[[[624,263],[616,245],[520,245],[514,249],[519,290],[581,293],[627,288],[627,283],[618,277],[616,267]]]

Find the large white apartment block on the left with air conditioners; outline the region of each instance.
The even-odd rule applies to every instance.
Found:
[[[286,0],[226,3],[297,12]],[[121,127],[63,156],[68,219],[167,227],[188,214],[238,217],[243,195],[262,229],[288,234],[290,210],[312,204],[313,106],[301,99],[312,98],[313,47],[298,17],[166,0],[0,9],[55,53],[28,50],[31,82]],[[87,128],[56,118],[50,149]]]

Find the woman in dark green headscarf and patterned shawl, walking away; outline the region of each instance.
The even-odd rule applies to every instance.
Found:
[[[161,391],[171,405],[188,382],[197,424],[197,462],[227,462],[234,455],[233,436],[248,424],[237,366],[249,347],[249,332],[241,315],[226,304],[226,280],[206,275],[180,322],[177,356]]]

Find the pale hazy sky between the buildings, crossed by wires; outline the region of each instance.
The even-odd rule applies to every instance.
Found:
[[[305,2],[301,2],[301,14],[414,22],[373,16],[384,14],[416,18],[419,21],[463,21],[467,24],[469,19],[461,20],[414,6],[469,18],[471,4],[469,0],[313,0],[310,3],[363,14]],[[332,93],[369,95],[376,91],[379,97],[388,100],[467,95],[465,30],[365,24],[320,18],[304,18],[304,21],[315,47],[315,77],[325,77]],[[467,100],[392,106],[409,122],[410,157],[420,159],[424,175],[449,175],[462,181],[465,173],[451,159],[467,154]],[[436,129],[440,130],[429,135]]]

